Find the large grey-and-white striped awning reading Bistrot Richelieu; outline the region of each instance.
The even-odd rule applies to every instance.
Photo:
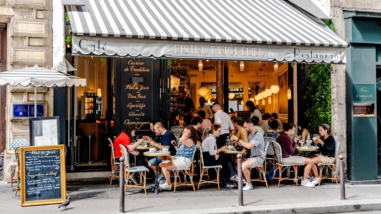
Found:
[[[83,0],[74,55],[344,64],[348,43],[286,0]]]

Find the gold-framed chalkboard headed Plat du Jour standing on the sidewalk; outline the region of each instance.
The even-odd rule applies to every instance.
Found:
[[[64,148],[21,147],[21,206],[59,204],[66,199]]]

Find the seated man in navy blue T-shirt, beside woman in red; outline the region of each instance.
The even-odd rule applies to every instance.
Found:
[[[163,137],[161,138],[161,143],[156,143],[152,139],[148,140],[148,143],[150,146],[155,147],[157,150],[163,150],[163,148],[169,148],[170,155],[174,156],[176,154],[176,148],[172,145],[171,141],[176,140],[174,134],[164,128],[162,123],[156,123],[153,126],[153,131],[156,133],[156,135],[162,135]],[[159,172],[156,172],[156,164],[160,164],[162,162],[160,157],[157,157],[157,163],[156,163],[156,158],[152,158],[148,161],[148,166],[151,168],[156,175],[159,174]]]

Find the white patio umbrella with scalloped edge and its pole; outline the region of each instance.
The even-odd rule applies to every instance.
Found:
[[[57,70],[33,67],[0,72],[0,86],[33,86],[34,87],[34,117],[37,117],[37,87],[86,86],[86,79],[64,74]]]

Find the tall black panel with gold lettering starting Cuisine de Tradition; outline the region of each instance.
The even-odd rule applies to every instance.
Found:
[[[154,90],[153,60],[143,58],[122,59],[121,129],[129,124],[136,129],[149,129],[152,118]],[[157,91],[156,91],[157,94]],[[159,104],[156,104],[158,106]]]

